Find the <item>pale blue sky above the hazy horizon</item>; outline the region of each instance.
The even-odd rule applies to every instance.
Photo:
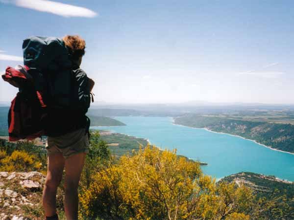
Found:
[[[0,0],[0,72],[22,63],[28,36],[78,34],[96,100],[294,104],[293,11],[292,0]],[[0,83],[0,101],[16,92]]]

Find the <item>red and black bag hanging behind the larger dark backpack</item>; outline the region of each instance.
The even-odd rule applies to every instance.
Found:
[[[2,75],[4,81],[20,89],[8,113],[9,141],[31,140],[45,133],[46,105],[27,70],[27,66],[8,66]]]

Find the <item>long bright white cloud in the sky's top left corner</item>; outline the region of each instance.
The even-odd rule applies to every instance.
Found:
[[[93,18],[97,13],[84,7],[50,0],[0,0],[2,3],[10,3],[19,7],[29,8],[41,12],[48,12],[63,17]]]

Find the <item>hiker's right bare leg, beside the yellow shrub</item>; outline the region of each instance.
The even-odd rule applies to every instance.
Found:
[[[64,210],[67,220],[77,220],[78,182],[83,170],[85,153],[74,154],[65,160]]]

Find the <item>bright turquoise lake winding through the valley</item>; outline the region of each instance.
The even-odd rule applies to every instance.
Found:
[[[162,149],[208,163],[205,174],[217,179],[242,171],[294,181],[294,155],[273,151],[250,140],[203,129],[173,125],[171,117],[114,117],[126,126],[91,127],[147,138]]]

